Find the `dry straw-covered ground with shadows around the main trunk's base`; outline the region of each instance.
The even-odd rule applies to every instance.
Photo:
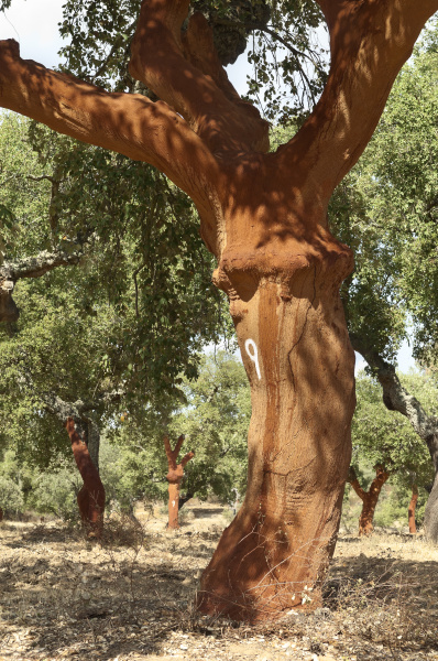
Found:
[[[438,660],[438,548],[340,539],[325,607],[250,627],[198,616],[198,578],[227,524],[197,507],[112,519],[102,543],[61,522],[0,524],[0,661]]]

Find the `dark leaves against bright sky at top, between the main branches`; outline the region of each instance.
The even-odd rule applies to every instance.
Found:
[[[66,68],[81,79],[111,90],[141,91],[128,72],[130,43],[139,0],[67,0],[61,35]],[[243,53],[252,33],[248,59],[249,98],[265,117],[286,123],[302,117],[322,90],[326,50],[319,44],[322,14],[311,0],[202,0],[200,10],[212,26],[223,64]]]

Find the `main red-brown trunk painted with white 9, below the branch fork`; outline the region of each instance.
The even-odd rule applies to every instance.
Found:
[[[233,253],[251,249],[248,236]],[[228,262],[227,248],[216,274],[230,297],[252,418],[247,495],[202,576],[199,605],[236,619],[318,606],[350,463],[354,355],[338,294],[350,254],[328,232],[319,256],[292,237],[270,246],[269,264],[255,250]]]

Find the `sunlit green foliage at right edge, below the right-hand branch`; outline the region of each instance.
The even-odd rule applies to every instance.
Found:
[[[349,330],[390,361],[412,323],[415,356],[435,360],[437,57],[431,23],[397,77],[373,139],[330,203],[332,230],[355,256],[342,288]]]

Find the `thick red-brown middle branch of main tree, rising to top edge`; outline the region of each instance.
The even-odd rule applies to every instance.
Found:
[[[180,113],[211,152],[267,151],[267,122],[228,80],[202,14],[190,18],[183,42],[189,0],[143,0],[130,74]]]

